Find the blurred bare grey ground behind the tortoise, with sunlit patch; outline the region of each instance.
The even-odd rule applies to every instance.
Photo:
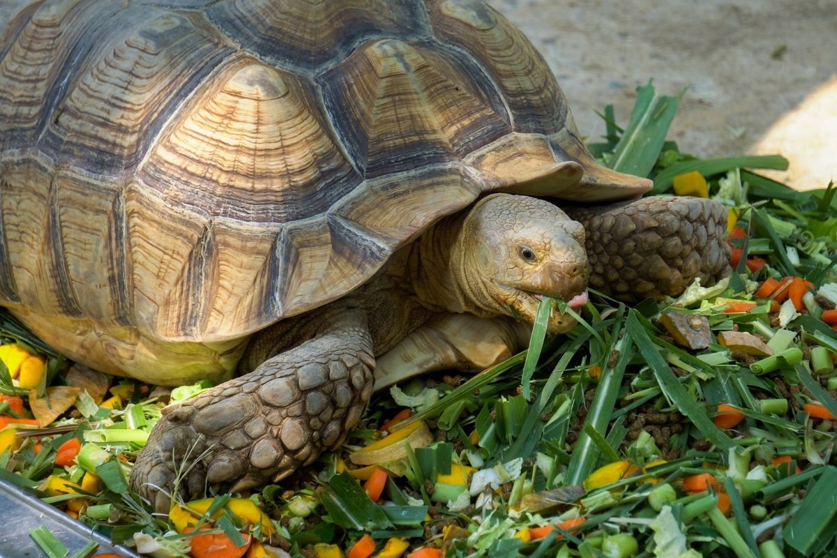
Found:
[[[800,189],[837,180],[837,0],[489,0],[528,35],[598,138],[627,122],[653,78],[676,94],[672,126],[699,156],[781,153]]]

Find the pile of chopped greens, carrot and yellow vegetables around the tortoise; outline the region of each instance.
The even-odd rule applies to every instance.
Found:
[[[169,392],[71,366],[3,314],[0,477],[153,556],[834,555],[834,189],[742,170],[781,157],[681,153],[665,141],[677,99],[638,93],[624,130],[604,111],[590,149],[653,178],[653,194],[729,207],[720,284],[634,307],[592,296],[567,335],[536,322],[529,351],[499,366],[393,387],[339,452],[282,485],[167,516],[127,474],[162,407],[208,384]],[[68,555],[49,530],[30,535]]]

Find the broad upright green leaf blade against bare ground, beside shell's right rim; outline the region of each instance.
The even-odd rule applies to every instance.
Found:
[[[650,81],[638,87],[634,110],[613,156],[608,158],[609,166],[614,171],[649,176],[677,113],[678,102],[678,97],[657,95]]]

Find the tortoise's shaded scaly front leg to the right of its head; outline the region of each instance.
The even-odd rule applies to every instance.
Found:
[[[644,197],[598,207],[563,207],[582,223],[589,285],[626,302],[678,296],[696,278],[730,274],[727,208],[701,197]]]

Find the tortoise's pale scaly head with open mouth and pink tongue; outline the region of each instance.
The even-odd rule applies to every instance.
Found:
[[[462,293],[480,310],[534,322],[544,296],[573,308],[587,302],[584,228],[536,197],[495,194],[477,202],[452,255]],[[553,310],[548,330],[562,333],[575,323]]]

